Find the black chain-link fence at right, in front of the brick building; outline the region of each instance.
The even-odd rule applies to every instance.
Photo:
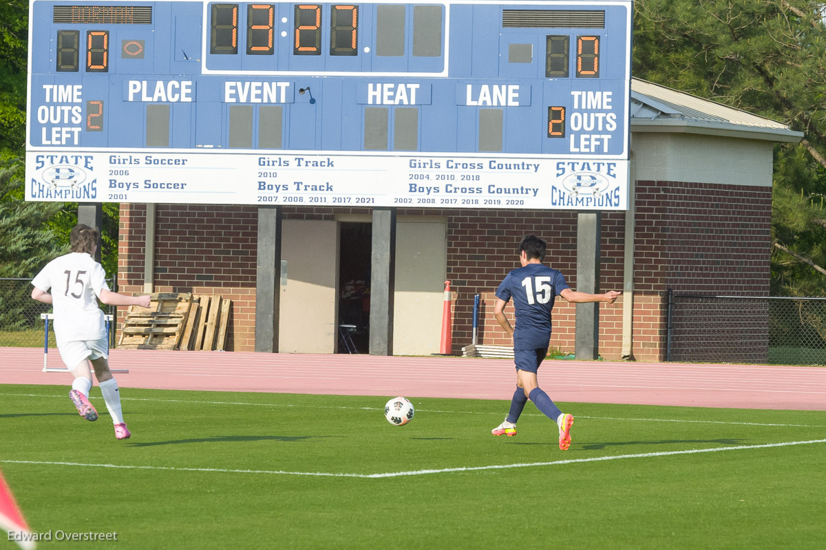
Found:
[[[826,365],[826,298],[669,290],[668,361]]]

